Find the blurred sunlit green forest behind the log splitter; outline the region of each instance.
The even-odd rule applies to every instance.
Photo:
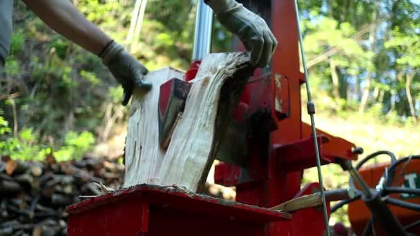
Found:
[[[189,67],[195,1],[149,0],[137,28],[135,1],[73,3],[149,70]],[[317,127],[362,146],[361,158],[376,150],[419,154],[420,2],[298,4]],[[232,36],[217,21],[213,30],[213,51],[229,52]],[[128,111],[120,105],[122,89],[95,55],[55,34],[21,1],[15,1],[11,54],[0,78],[0,155],[121,156]],[[327,188],[348,185],[338,166],[323,169]],[[314,178],[307,170],[305,182]],[[332,223],[347,222],[344,210]]]

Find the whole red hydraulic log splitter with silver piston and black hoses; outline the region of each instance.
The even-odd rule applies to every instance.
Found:
[[[367,170],[372,168],[365,172],[362,168],[361,177],[358,171],[361,165],[353,168],[351,161],[356,160],[363,149],[322,130],[314,132],[313,124],[302,121],[300,88],[307,84],[308,79],[305,65],[304,72],[300,71],[298,42],[301,35],[295,1],[239,2],[267,21],[279,46],[271,65],[257,69],[254,77],[249,79],[218,153],[220,164],[215,169],[215,181],[224,186],[236,186],[236,201],[185,193],[177,188],[134,186],[69,206],[68,235],[329,235],[325,218],[330,217],[331,210],[350,201],[356,204],[350,205],[350,210],[364,210],[361,216],[350,215],[358,234],[362,233],[363,226],[366,226],[365,232],[372,233],[374,220],[391,235],[408,235],[408,230],[419,224],[414,222],[420,217],[418,212],[399,213],[398,217],[401,214],[405,217],[404,224],[411,223],[403,228],[383,199],[390,193],[419,194],[415,189],[390,188],[393,183],[390,175],[403,174],[401,166],[404,165],[399,164],[408,163],[404,162],[407,159],[397,161],[393,158],[388,172],[382,174],[385,164],[374,168],[375,171],[381,170],[381,174],[376,171],[370,178],[367,177],[372,171]],[[195,77],[200,59],[210,52],[212,17],[211,10],[199,0],[193,63],[186,74],[187,81]],[[245,50],[238,39],[233,39],[232,48],[234,51]],[[162,85],[164,103],[173,96],[171,91],[176,84],[172,80]],[[188,88],[182,89],[187,91],[178,94],[177,99],[187,95]],[[308,100],[308,111],[313,115],[310,97]],[[182,104],[177,109],[182,109]],[[164,119],[168,119],[165,114],[162,115],[162,124],[168,124]],[[163,133],[160,136],[165,137],[167,130],[167,127],[160,126]],[[160,141],[162,145],[167,142],[165,139]],[[383,153],[374,153],[367,159],[380,154]],[[418,174],[419,158],[410,157],[406,170]],[[347,190],[333,190],[327,191],[325,198],[321,193],[316,201],[318,204],[312,207],[303,208],[298,204],[292,214],[270,209],[284,209],[285,202],[292,206],[293,199],[319,194],[323,190],[322,182],[301,188],[303,171],[325,164],[339,164],[343,170],[349,170],[350,183],[356,192],[354,196],[349,196]],[[414,176],[412,173],[410,176]],[[379,187],[372,190],[372,184],[379,178],[382,179]],[[364,179],[369,180],[367,184]],[[330,201],[341,199],[344,200],[340,204],[330,208]],[[420,199],[410,201],[402,201],[402,204],[411,210],[419,210]],[[322,207],[323,203],[325,207]],[[401,200],[388,201],[388,204],[392,203],[401,206]],[[370,215],[372,219],[369,219]]]

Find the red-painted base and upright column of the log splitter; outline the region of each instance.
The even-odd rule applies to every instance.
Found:
[[[325,234],[321,208],[299,210],[292,218],[267,210],[320,190],[318,183],[301,188],[303,170],[316,166],[316,157],[310,126],[302,121],[305,79],[294,0],[240,2],[267,21],[279,44],[271,66],[249,80],[234,116],[247,127],[245,164],[216,166],[216,183],[236,186],[236,202],[136,186],[70,206],[69,235]],[[244,50],[240,41],[233,50]],[[199,65],[194,61],[187,80]],[[322,164],[357,159],[354,144],[321,130],[317,134]]]

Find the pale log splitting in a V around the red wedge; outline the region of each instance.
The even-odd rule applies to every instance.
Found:
[[[245,84],[254,68],[246,52],[205,57],[166,150],[158,140],[160,85],[184,73],[172,68],[150,72],[149,92],[135,90],[128,119],[123,187],[137,184],[180,186],[200,192]]]

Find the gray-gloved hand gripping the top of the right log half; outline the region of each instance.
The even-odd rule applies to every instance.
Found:
[[[269,63],[277,40],[267,23],[235,0],[204,0],[215,12],[220,23],[244,43],[251,51],[251,61],[264,67]]]

